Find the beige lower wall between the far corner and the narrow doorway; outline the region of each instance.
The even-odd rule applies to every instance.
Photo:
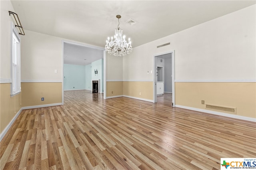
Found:
[[[153,82],[152,81],[124,81],[123,92],[124,92],[124,95],[126,96],[153,100]]]

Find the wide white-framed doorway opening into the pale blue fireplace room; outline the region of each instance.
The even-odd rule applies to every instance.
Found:
[[[64,105],[64,91],[89,90],[92,93],[94,79],[98,80],[94,93],[103,93],[106,99],[104,48],[62,40],[62,59],[62,105]],[[95,74],[94,70],[97,71]]]

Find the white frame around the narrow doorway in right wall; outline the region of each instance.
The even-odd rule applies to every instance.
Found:
[[[166,53],[161,53],[161,54],[157,54],[157,55],[154,55],[153,57],[153,61],[154,61],[154,81],[153,81],[153,102],[156,103],[157,102],[157,94],[156,94],[156,83],[157,83],[157,77],[156,77],[156,57],[158,57],[159,55],[164,55],[164,54],[169,54],[171,53],[172,54],[172,104],[173,104],[173,107],[175,107],[175,69],[174,69],[174,50],[172,51],[169,51],[169,52],[166,52]],[[171,104],[171,103],[170,103]]]

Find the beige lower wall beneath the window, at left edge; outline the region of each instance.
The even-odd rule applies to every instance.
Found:
[[[0,84],[0,133],[21,108],[20,94],[10,97],[10,83]]]

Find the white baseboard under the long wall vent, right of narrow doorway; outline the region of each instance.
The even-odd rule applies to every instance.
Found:
[[[213,114],[213,115],[219,115],[219,116],[224,116],[224,117],[231,117],[231,118],[235,118],[235,119],[241,119],[241,120],[244,120],[244,121],[256,122],[256,119],[251,118],[251,117],[232,115],[232,114],[228,114],[228,113],[209,111],[209,110],[206,110],[206,109],[198,109],[198,108],[194,108],[194,107],[187,107],[187,106],[181,106],[181,105],[175,105],[175,107],[179,107],[179,108],[182,108],[182,109],[188,109],[188,110],[192,110],[192,111],[210,113],[210,114]]]

